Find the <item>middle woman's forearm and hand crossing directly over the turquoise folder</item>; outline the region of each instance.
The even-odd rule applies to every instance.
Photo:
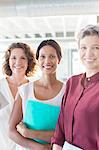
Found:
[[[26,138],[37,138],[44,140],[48,143],[51,142],[51,137],[54,134],[54,131],[41,131],[41,130],[32,130],[28,129],[23,122],[20,122],[17,125],[17,131]]]

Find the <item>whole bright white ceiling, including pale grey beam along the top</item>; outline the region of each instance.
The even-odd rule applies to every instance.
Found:
[[[73,36],[98,14],[98,0],[0,0],[0,40]]]

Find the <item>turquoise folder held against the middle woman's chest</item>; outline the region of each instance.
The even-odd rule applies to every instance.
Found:
[[[60,106],[29,99],[26,101],[26,111],[23,121],[29,129],[55,130],[59,112]],[[34,140],[42,144],[47,144],[47,142],[43,140]]]

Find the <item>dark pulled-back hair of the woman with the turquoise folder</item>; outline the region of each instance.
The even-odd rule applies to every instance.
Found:
[[[61,48],[60,48],[59,44],[56,41],[52,40],[52,39],[50,39],[50,40],[44,40],[44,41],[42,41],[40,43],[40,45],[38,46],[37,51],[36,51],[36,59],[38,60],[38,58],[39,58],[40,49],[43,46],[46,46],[46,45],[49,45],[49,46],[53,47],[56,50],[58,59],[60,61],[61,58],[62,58]]]

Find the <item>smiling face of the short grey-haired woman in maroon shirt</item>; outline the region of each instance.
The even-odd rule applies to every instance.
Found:
[[[99,72],[99,37],[85,36],[80,40],[80,59],[86,71],[92,72],[93,74]]]

